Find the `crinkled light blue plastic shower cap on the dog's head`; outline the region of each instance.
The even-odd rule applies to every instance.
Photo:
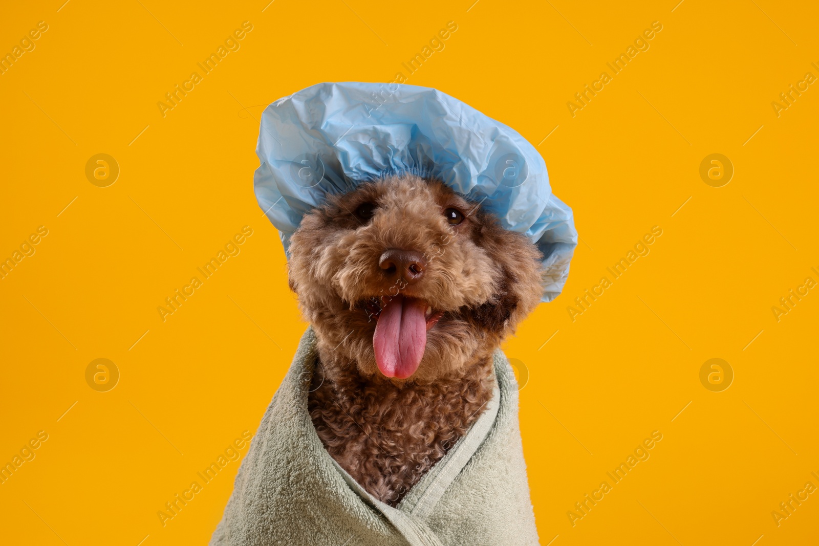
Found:
[[[328,194],[391,174],[437,178],[522,232],[543,253],[554,300],[577,246],[572,210],[552,195],[543,158],[513,129],[437,89],[319,83],[268,106],[256,147],[256,198],[285,253]],[[289,255],[289,254],[288,254]]]

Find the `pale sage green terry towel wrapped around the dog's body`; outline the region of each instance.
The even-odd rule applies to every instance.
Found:
[[[473,423],[397,508],[373,499],[324,449],[307,396],[312,328],[242,461],[211,546],[539,544],[518,426],[518,386],[494,355],[498,386]]]

